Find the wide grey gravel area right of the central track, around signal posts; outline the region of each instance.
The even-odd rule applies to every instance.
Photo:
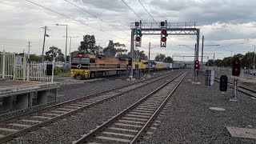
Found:
[[[226,130],[226,126],[256,129],[255,100],[238,93],[239,101],[230,102],[231,95],[223,95],[218,82],[208,88],[204,78],[201,85],[192,85],[189,79],[178,87],[159,126],[142,143],[256,143],[255,139],[233,138]]]

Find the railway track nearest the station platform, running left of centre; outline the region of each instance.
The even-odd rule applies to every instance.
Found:
[[[119,86],[111,90],[91,94],[89,96],[77,98],[68,102],[62,102],[55,106],[49,106],[43,110],[23,114],[22,116],[16,118],[10,118],[0,123],[0,143],[17,138],[22,134],[37,130],[42,126],[47,126],[52,122],[66,118],[81,110],[85,110],[91,106],[106,102],[107,100],[116,98],[122,94],[126,94],[132,90],[136,90],[142,86],[146,86],[149,83],[156,82],[162,78],[166,78],[177,73],[179,73],[179,71],[164,74],[160,77],[148,78],[139,82],[133,82],[132,84],[128,84],[126,86]]]

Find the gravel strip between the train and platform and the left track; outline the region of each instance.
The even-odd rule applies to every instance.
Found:
[[[166,72],[170,72],[170,70],[151,72],[151,75],[158,76],[161,74],[166,74]],[[135,75],[135,78],[136,80],[141,80],[142,78],[145,78],[145,74],[141,74],[141,75],[137,74]],[[124,86],[131,83],[130,81],[126,81],[126,79],[124,79],[123,76],[94,78],[89,80],[76,80],[71,77],[56,76],[54,80],[62,83],[61,87],[58,88],[57,102],[49,103],[47,105],[42,105],[42,106],[34,106],[33,108],[26,109],[26,110],[13,111],[10,114],[4,114],[0,112],[0,114],[2,114],[0,117],[0,121],[7,118],[16,117],[20,114],[30,113],[34,110],[40,110],[42,108],[45,108],[46,106],[51,106],[58,102],[66,102],[74,98],[81,98],[89,94],[94,94],[96,92],[100,92],[104,90],[110,90],[114,87]]]

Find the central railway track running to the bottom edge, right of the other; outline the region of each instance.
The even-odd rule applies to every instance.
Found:
[[[154,118],[168,102],[187,72],[178,74],[158,89],[126,108],[121,113],[84,135],[74,144],[81,143],[137,143],[146,133]]]

